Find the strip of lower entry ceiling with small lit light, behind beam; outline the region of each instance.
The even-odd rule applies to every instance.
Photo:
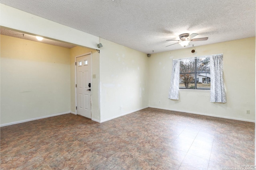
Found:
[[[36,36],[34,36],[34,35],[30,35],[30,34],[27,34],[27,33],[21,33],[21,32],[17,32],[17,31],[12,31],[10,29],[1,28],[0,33],[2,35],[8,35],[8,36],[11,36],[11,37],[27,39],[27,40],[30,40],[30,41],[38,41],[36,39]],[[50,44],[50,45],[56,45],[56,46],[60,46],[60,47],[65,47],[65,48],[68,48],[68,49],[71,49],[71,48],[77,46],[77,45],[73,45],[73,44],[70,44],[70,43],[63,43],[63,42],[60,42],[60,41],[54,41],[54,40],[45,39],[45,38],[42,39],[42,41],[38,41],[38,42],[45,43],[45,44]]]

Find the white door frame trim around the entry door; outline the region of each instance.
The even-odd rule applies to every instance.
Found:
[[[90,63],[90,66],[91,66],[91,80],[90,80],[90,82],[91,82],[91,97],[90,97],[90,100],[91,100],[91,117],[92,117],[92,86],[93,86],[93,83],[92,83],[92,52],[88,52],[88,53],[84,53],[84,54],[81,54],[81,55],[76,55],[75,56],[75,98],[77,97],[77,95],[76,95],[76,59],[78,58],[78,57],[82,57],[82,56],[84,56],[84,55],[90,55],[90,58],[91,58],[91,63]],[[76,108],[77,108],[77,99],[76,99]],[[77,115],[77,109],[76,109],[76,115]],[[92,119],[92,118],[91,118]]]

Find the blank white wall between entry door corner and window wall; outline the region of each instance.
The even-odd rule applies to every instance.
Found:
[[[104,39],[101,43],[101,121],[148,107],[147,55]]]

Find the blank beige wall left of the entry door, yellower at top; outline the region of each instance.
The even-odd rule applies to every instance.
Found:
[[[1,35],[1,125],[70,112],[70,50]]]

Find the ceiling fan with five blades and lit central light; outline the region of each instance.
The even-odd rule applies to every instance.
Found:
[[[190,41],[205,41],[208,39],[208,37],[204,37],[204,38],[194,38],[196,37],[196,33],[192,33],[189,35],[189,33],[184,33],[184,34],[180,34],[179,37],[180,37],[180,40],[173,40],[173,39],[168,39],[166,41],[179,41],[178,43],[183,46],[183,47],[186,47]],[[192,39],[194,38],[194,39]],[[174,43],[174,44],[178,44],[178,43]],[[171,44],[171,45],[174,45],[174,44]],[[168,47],[170,45],[167,45],[166,47]]]

